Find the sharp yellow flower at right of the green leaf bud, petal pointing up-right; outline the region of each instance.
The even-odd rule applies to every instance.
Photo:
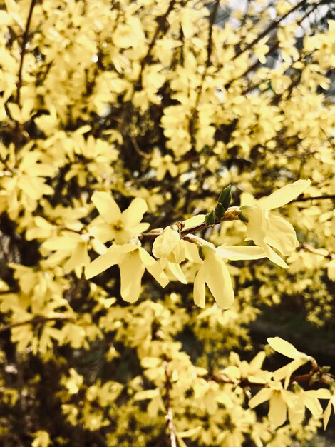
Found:
[[[310,180],[295,181],[260,199],[257,206],[247,206],[246,209],[242,207],[243,214],[248,219],[247,240],[254,241],[256,245],[262,247],[267,257],[278,266],[289,268],[272,247],[282,255],[289,256],[299,243],[293,226],[270,210],[288,204],[310,184]]]

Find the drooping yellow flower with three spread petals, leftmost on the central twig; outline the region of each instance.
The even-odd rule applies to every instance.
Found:
[[[86,267],[85,276],[87,279],[93,278],[115,264],[120,268],[121,296],[128,303],[134,303],[140,296],[145,268],[160,286],[165,287],[169,282],[159,263],[135,243],[110,246],[104,254]]]

